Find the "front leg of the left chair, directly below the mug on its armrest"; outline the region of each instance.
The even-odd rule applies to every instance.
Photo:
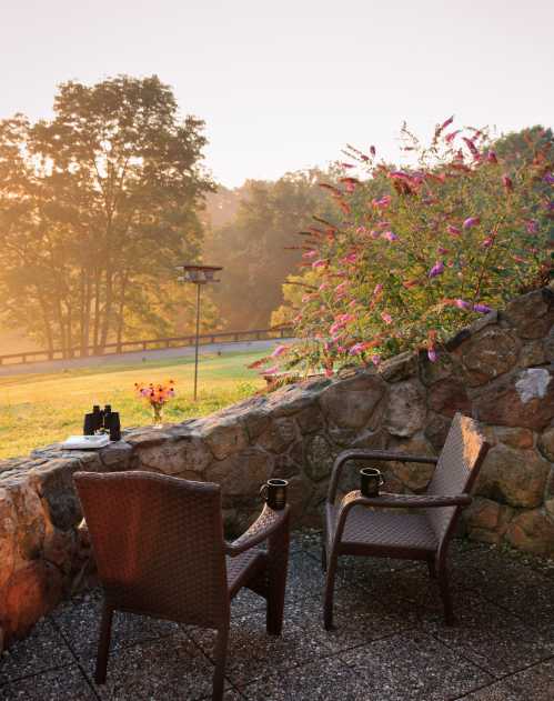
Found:
[[[265,628],[270,635],[283,629],[284,594],[289,565],[289,522],[270,537],[268,543],[268,612]]]

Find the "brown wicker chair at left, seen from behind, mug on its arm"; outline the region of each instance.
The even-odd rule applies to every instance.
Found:
[[[218,484],[149,472],[74,474],[104,605],[95,681],[105,682],[113,611],[218,631],[213,699],[223,694],[230,601],[242,587],[266,599],[266,629],[281,633],[289,508],[264,507],[232,543],[223,538]],[[255,545],[268,540],[268,550]]]

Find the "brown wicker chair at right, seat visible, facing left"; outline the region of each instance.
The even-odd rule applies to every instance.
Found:
[[[361,449],[346,450],[336,458],[329,485],[322,553],[328,630],[333,625],[336,562],[343,554],[426,560],[431,577],[439,578],[446,624],[454,623],[446,552],[460,512],[471,503],[467,492],[487,450],[488,443],[475,421],[456,414],[439,458]],[[339,478],[349,460],[426,462],[435,463],[436,469],[423,495],[383,493],[366,499],[360,491],[353,491],[335,505]]]

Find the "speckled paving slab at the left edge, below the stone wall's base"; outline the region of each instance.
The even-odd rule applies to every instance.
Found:
[[[24,640],[14,642],[0,657],[0,684],[73,662],[63,638],[48,619],[42,619]]]

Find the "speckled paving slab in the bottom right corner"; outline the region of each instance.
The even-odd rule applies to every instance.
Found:
[[[554,699],[554,660],[535,664],[490,687],[464,697],[465,701],[552,701]]]

